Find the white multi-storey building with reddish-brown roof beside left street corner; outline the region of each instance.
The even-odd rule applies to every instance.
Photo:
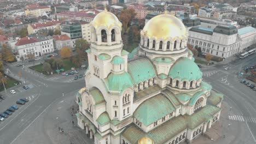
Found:
[[[17,61],[27,59],[28,55],[43,56],[54,52],[53,39],[38,34],[34,37],[20,38],[15,43],[14,51],[18,54]]]

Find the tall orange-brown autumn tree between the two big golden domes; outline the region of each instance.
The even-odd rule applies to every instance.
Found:
[[[134,9],[125,9],[125,10],[121,11],[119,19],[123,23],[125,31],[127,31],[128,27],[129,27],[129,23],[133,19],[135,19],[136,14],[137,13],[135,13]]]

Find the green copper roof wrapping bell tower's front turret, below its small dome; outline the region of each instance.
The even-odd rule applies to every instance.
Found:
[[[126,71],[122,74],[110,73],[104,82],[110,91],[123,92],[124,89],[133,86],[131,76]]]

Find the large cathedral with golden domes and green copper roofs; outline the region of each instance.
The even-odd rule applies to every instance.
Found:
[[[85,86],[75,95],[78,126],[94,143],[191,143],[219,121],[223,94],[202,81],[187,47],[188,29],[161,14],[131,53],[122,24],[105,10],[90,23]]]

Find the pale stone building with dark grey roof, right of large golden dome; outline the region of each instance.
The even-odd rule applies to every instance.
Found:
[[[241,39],[234,26],[217,26],[214,29],[193,27],[189,29],[188,44],[201,49],[203,53],[227,58],[240,52]]]

